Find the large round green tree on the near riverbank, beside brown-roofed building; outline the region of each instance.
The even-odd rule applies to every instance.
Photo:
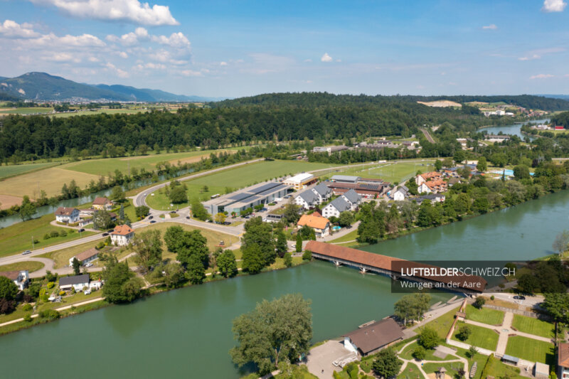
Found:
[[[280,361],[295,363],[309,351],[312,339],[310,301],[300,294],[263,300],[253,311],[233,320],[238,346],[230,355],[239,367],[255,363],[260,373],[270,373]]]

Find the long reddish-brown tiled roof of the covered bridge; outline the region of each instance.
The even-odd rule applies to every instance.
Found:
[[[388,255],[375,254],[373,252],[364,252],[352,249],[350,247],[332,245],[325,242],[309,241],[305,250],[326,255],[339,260],[346,260],[360,265],[376,267],[378,269],[389,270],[397,274],[401,274],[400,270],[405,269],[440,269],[440,267],[427,265],[425,263],[413,262],[410,260],[402,260],[400,258],[389,257]],[[427,279],[433,282],[442,282],[445,284],[457,284],[456,287],[469,289],[470,291],[482,292],[486,288],[486,280],[483,277],[475,275],[463,275],[460,277],[451,275],[428,275],[415,274],[415,277]]]

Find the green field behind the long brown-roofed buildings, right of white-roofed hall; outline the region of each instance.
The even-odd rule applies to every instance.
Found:
[[[363,178],[381,178],[390,183],[402,182],[411,176],[414,176],[417,171],[427,172],[434,169],[431,166],[432,161],[413,161],[413,162],[395,162],[387,164],[378,164],[362,167],[353,167],[341,172],[343,175],[355,175]]]

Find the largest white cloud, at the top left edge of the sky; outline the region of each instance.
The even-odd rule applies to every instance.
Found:
[[[141,3],[139,0],[29,0],[33,4],[55,6],[80,18],[102,21],[130,21],[142,25],[179,25],[168,6]]]

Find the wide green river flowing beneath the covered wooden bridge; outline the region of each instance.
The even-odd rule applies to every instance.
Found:
[[[407,259],[526,260],[551,254],[569,229],[569,191],[389,240],[363,250]],[[311,262],[293,269],[178,289],[0,336],[5,378],[238,378],[231,320],[257,301],[312,299],[314,341],[393,311],[386,277]],[[437,294],[433,301],[451,294]]]

